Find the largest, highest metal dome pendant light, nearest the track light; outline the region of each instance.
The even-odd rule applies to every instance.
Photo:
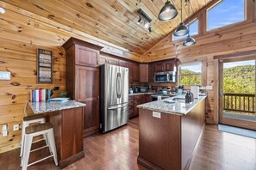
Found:
[[[159,20],[160,21],[168,21],[172,20],[178,15],[177,9],[174,7],[174,5],[167,0],[164,7],[159,12]]]

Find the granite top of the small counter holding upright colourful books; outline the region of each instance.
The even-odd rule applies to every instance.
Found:
[[[43,113],[43,112],[61,111],[65,109],[86,106],[84,103],[80,103],[75,100],[50,101],[50,102],[38,101],[38,102],[28,102],[28,104],[32,108],[35,114]]]

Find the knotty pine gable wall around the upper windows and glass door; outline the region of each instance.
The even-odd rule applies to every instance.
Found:
[[[216,2],[216,1],[215,1]],[[166,58],[178,58],[181,63],[203,61],[203,85],[213,86],[208,90],[206,119],[208,123],[218,123],[218,61],[214,56],[235,52],[247,52],[256,49],[256,4],[247,0],[247,21],[206,32],[206,9],[215,2],[199,11],[193,18],[198,18],[199,34],[194,36],[197,44],[190,47],[182,46],[183,40],[172,41],[172,33],[159,41],[144,53],[142,62],[159,61]]]

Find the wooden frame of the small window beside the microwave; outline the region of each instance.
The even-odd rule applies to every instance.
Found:
[[[195,73],[195,74],[181,74],[180,68],[182,66],[191,66],[191,65],[201,65],[201,73]],[[181,76],[194,76],[194,75],[200,75],[200,84],[181,84]],[[198,62],[188,62],[188,63],[183,63],[183,64],[178,64],[178,85],[184,85],[184,86],[203,86],[203,62],[198,61]]]

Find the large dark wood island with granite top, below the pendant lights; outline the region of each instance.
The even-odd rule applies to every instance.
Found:
[[[137,106],[138,162],[148,169],[189,169],[205,122],[205,98],[185,104],[178,95]]]

